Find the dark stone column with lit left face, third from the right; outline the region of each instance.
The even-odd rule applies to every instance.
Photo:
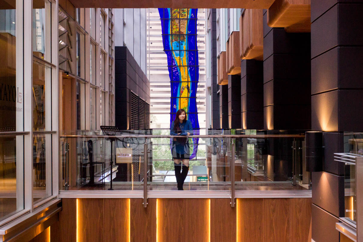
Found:
[[[241,121],[243,129],[264,128],[263,61],[241,61]]]

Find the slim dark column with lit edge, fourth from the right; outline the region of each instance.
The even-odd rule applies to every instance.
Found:
[[[241,128],[240,75],[228,75],[228,128]]]

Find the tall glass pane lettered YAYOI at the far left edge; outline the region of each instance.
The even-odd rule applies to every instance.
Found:
[[[0,132],[23,131],[23,79],[16,78],[15,0],[0,2]],[[8,9],[6,9],[8,8]]]

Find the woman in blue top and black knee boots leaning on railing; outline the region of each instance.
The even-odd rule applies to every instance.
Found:
[[[185,110],[179,109],[178,112],[176,112],[175,120],[171,122],[170,135],[188,136],[192,133],[192,130],[192,122],[187,119]],[[184,180],[189,171],[189,138],[173,138],[171,154],[174,160],[175,177],[176,182],[178,183],[178,190],[183,190]],[[181,167],[183,167],[183,169]]]

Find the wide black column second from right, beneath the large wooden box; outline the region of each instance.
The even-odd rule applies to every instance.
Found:
[[[310,34],[269,28],[264,15],[264,128],[309,130]]]

